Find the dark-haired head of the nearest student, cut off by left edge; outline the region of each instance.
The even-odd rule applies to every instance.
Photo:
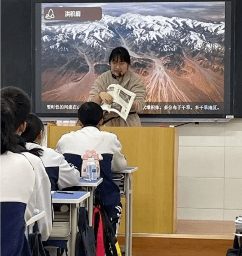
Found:
[[[6,100],[1,98],[1,154],[7,150],[14,151],[15,148],[12,111]]]

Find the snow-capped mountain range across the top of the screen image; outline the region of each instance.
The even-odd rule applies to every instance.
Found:
[[[117,44],[120,44],[124,40],[136,53],[143,44],[147,48],[149,45],[159,45],[160,54],[183,47],[204,49],[204,45],[209,52],[214,48],[211,46],[213,43],[224,42],[224,33],[224,22],[200,22],[179,17],[167,18],[127,13],[119,17],[104,15],[101,21],[92,23],[43,25],[42,42],[44,50],[47,50],[46,47],[58,50],[61,44],[68,49],[68,44],[75,42],[91,47],[94,51],[100,51],[104,50],[107,45],[114,47],[114,41],[118,40]],[[46,41],[48,41],[47,45],[44,44]]]

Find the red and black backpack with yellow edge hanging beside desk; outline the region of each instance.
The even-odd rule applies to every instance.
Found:
[[[104,207],[100,209],[99,206],[95,206],[92,223],[94,225],[95,237],[96,237],[96,256],[121,256],[121,251],[113,223],[108,217]]]

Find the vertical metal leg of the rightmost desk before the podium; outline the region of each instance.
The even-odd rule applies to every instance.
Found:
[[[128,173],[125,173],[125,256],[129,255],[129,177]]]

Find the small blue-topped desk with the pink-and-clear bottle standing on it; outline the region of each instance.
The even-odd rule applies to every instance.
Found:
[[[77,186],[87,187],[90,192],[90,197],[88,198],[88,219],[89,225],[92,226],[92,213],[93,213],[93,205],[94,205],[94,190],[95,188],[103,182],[103,178],[97,178],[97,180],[85,180],[80,178]]]

